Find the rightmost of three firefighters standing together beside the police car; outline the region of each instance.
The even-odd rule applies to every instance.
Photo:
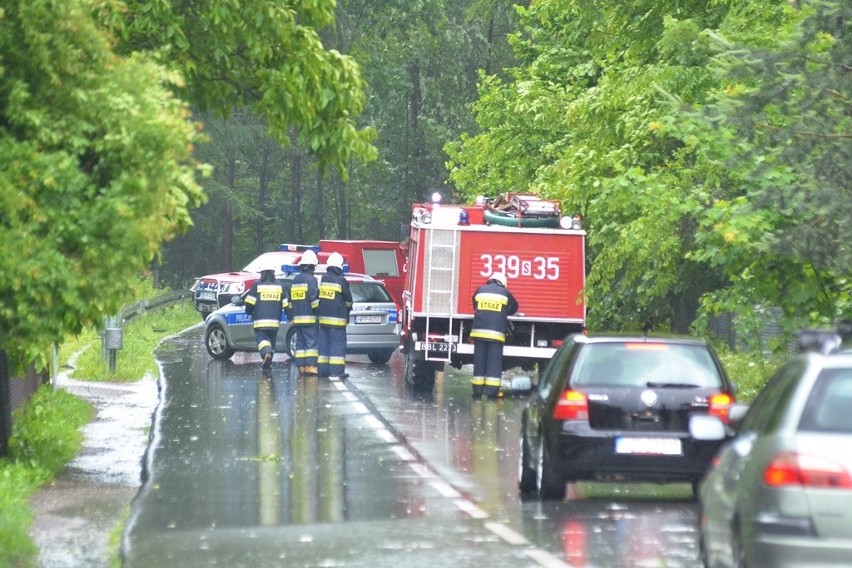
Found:
[[[343,277],[343,256],[333,252],[319,286],[319,357],[317,367],[321,377],[332,380],[345,376],[346,325],[352,310],[349,282]]]

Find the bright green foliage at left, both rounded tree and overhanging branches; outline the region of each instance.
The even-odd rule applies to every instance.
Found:
[[[0,11],[0,349],[43,359],[129,299],[204,201],[190,108],[253,109],[340,172],[370,159],[333,0],[11,1]],[[250,14],[251,17],[246,17]]]

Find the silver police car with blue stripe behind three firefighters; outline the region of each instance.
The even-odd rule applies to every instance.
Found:
[[[289,291],[292,276],[280,280],[285,291]],[[317,274],[317,278],[320,276]],[[365,274],[345,277],[353,301],[346,326],[346,353],[364,354],[373,363],[385,364],[399,347],[399,308],[380,281]],[[251,316],[246,314],[242,298],[237,298],[204,320],[204,344],[214,359],[229,359],[237,351],[257,351]],[[282,314],[275,351],[293,357],[295,350],[295,329]]]

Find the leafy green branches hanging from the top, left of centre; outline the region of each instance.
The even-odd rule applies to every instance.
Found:
[[[323,162],[371,159],[373,133],[355,120],[364,102],[358,65],[327,50],[318,30],[334,22],[334,0],[103,0],[101,19],[119,53],[145,52],[180,73],[185,100],[228,116],[248,107],[272,136],[290,128]],[[120,9],[119,9],[120,8]]]

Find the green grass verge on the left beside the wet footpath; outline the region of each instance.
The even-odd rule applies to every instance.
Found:
[[[163,291],[151,289],[140,297],[160,293]],[[109,371],[102,356],[98,330],[86,330],[63,342],[60,362],[67,366],[69,359],[82,351],[74,366],[77,380],[134,382],[146,374],[156,376],[153,351],[157,344],[198,321],[190,302],[139,316],[124,328],[124,347],[118,352],[115,373]],[[34,517],[30,498],[79,453],[82,428],[93,413],[86,400],[50,385],[42,386],[14,413],[9,457],[0,458],[0,566],[36,566],[38,550],[29,535]],[[120,562],[117,551],[126,516],[110,538],[111,566]]]

